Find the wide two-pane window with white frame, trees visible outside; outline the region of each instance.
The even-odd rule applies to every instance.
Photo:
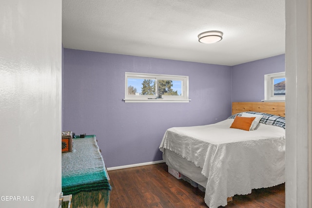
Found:
[[[125,102],[189,102],[189,77],[125,73]]]

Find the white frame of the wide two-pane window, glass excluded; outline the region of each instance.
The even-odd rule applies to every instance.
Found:
[[[155,79],[156,81],[156,95],[128,95],[128,78],[140,79]],[[182,95],[162,95],[162,98],[157,98],[158,87],[157,80],[177,80],[181,81]],[[125,73],[125,102],[189,102],[189,76],[177,75],[158,75],[147,73]]]

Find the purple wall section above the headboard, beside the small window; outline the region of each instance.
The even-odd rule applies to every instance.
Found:
[[[285,54],[233,66],[232,101],[264,99],[264,75],[285,72]]]

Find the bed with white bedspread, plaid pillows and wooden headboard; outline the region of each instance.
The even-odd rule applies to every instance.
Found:
[[[230,128],[254,116],[254,131]],[[168,129],[159,149],[169,167],[206,189],[209,208],[226,206],[235,194],[285,182],[285,103],[232,103],[224,121]]]

